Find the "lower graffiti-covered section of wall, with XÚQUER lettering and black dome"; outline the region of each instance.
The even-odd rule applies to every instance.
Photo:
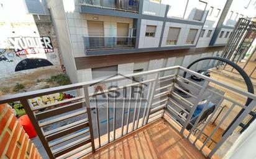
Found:
[[[0,33],[0,79],[39,67],[61,67],[52,24],[0,23]]]

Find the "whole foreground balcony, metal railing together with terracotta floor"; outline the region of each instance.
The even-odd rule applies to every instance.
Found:
[[[184,72],[204,80],[196,83]],[[252,102],[245,106],[223,91]],[[73,98],[55,98],[60,92]],[[55,100],[42,103],[43,95]],[[219,158],[221,145],[255,108],[256,96],[173,66],[0,97],[0,104],[13,101],[24,106],[49,158]],[[224,103],[227,111],[219,116]],[[234,109],[244,111],[215,140]]]

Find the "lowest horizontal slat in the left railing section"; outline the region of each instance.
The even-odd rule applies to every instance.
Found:
[[[71,152],[71,150],[75,150],[76,148],[79,148],[83,145],[89,144],[91,142],[91,139],[89,137],[84,137],[82,139],[76,140],[75,142],[71,142],[70,144],[66,144],[63,147],[57,148],[56,150],[53,150],[53,156],[54,157],[60,157],[61,155],[64,155],[67,152]]]

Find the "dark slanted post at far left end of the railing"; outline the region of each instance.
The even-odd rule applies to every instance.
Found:
[[[39,123],[37,122],[37,119],[35,119],[34,112],[31,110],[31,107],[29,105],[29,100],[27,99],[22,99],[21,100],[21,105],[23,106],[25,113],[27,113],[27,116],[29,116],[30,121],[32,122],[35,131],[37,132],[37,135],[39,136],[40,141],[42,142],[43,148],[45,148],[45,151],[47,152],[47,155],[50,159],[54,159],[55,157],[52,154],[52,151],[50,147],[48,146],[48,142],[45,139],[43,132],[41,131],[39,127]]]

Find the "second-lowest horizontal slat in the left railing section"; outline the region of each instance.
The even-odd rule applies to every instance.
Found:
[[[81,129],[85,129],[88,126],[89,126],[89,123],[85,122],[83,124],[79,124],[79,125],[76,125],[76,126],[73,126],[73,127],[69,127],[68,129],[65,129],[63,131],[58,131],[55,134],[51,134],[51,135],[46,136],[45,138],[48,141],[55,140],[55,139],[58,139],[60,137],[65,136],[65,135],[71,134],[72,132],[76,132],[76,131],[79,131]]]

